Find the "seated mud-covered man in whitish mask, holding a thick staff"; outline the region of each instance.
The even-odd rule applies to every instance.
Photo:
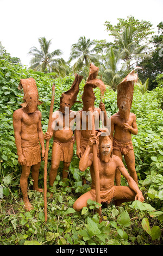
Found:
[[[99,134],[97,135],[99,136]],[[93,169],[93,155],[90,154],[92,145],[96,143],[97,136],[91,135],[89,144],[86,147],[85,153],[80,159],[79,169],[84,171],[87,167],[90,167],[92,185],[91,190],[80,196],[76,202],[74,202],[73,208],[76,211],[80,211],[87,205],[87,200],[91,199],[96,201],[95,191],[95,172]],[[123,202],[132,202],[134,200],[140,200],[143,202],[142,192],[137,186],[136,182],[131,178],[127,169],[124,167],[120,157],[112,154],[112,141],[107,133],[101,133],[99,136],[99,157],[98,157],[98,169],[99,169],[99,182],[101,203],[110,203],[111,200],[115,200],[116,205],[121,205]],[[115,173],[118,168],[121,174],[126,178],[129,186],[115,186]]]

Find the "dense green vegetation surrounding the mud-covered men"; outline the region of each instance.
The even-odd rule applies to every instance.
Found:
[[[151,25],[134,20],[128,20],[129,25],[139,28],[137,33],[133,33],[133,39],[136,41],[135,47],[138,47],[143,38],[143,31],[146,29],[146,35],[150,35]],[[110,23],[106,23],[110,31],[114,30],[115,41],[118,41],[118,34],[121,30],[120,25],[126,25],[126,21],[120,19],[120,24],[114,29]],[[139,25],[139,26],[138,26]],[[141,26],[140,26],[141,25]],[[127,27],[128,29],[128,27]],[[126,31],[127,32],[127,31]],[[125,32],[125,33],[126,33]],[[112,32],[111,32],[112,33]],[[124,30],[122,31],[124,33]],[[84,37],[83,37],[84,40]],[[85,41],[86,42],[86,41]],[[90,41],[89,41],[90,43]],[[98,46],[98,47],[97,47]],[[104,41],[97,42],[98,51],[108,47],[110,55],[105,56],[104,66],[111,64],[117,49]],[[72,52],[75,57],[75,45]],[[34,206],[34,210],[26,212],[23,208],[22,193],[20,190],[21,166],[17,161],[17,152],[12,126],[12,114],[20,107],[23,94],[17,89],[21,78],[33,77],[36,80],[40,100],[43,102],[39,106],[42,113],[42,130],[47,131],[49,108],[51,104],[51,89],[55,82],[55,101],[54,111],[59,108],[59,99],[61,92],[70,88],[74,75],[68,72],[68,75],[61,75],[56,70],[45,70],[45,72],[34,71],[25,68],[20,60],[12,58],[1,46],[2,54],[0,56],[0,244],[1,245],[160,245],[162,244],[161,233],[163,230],[163,130],[162,130],[162,107],[163,107],[163,87],[162,75],[157,71],[153,73],[156,85],[153,90],[148,91],[142,83],[138,83],[134,89],[134,99],[131,112],[136,114],[139,133],[133,136],[132,141],[135,151],[135,166],[139,178],[139,187],[145,197],[145,202],[135,201],[133,203],[123,203],[121,207],[116,207],[114,203],[102,205],[103,222],[99,224],[99,217],[96,208],[97,203],[88,200],[88,205],[82,212],[73,210],[74,201],[83,193],[90,189],[90,185],[82,186],[82,175],[78,169],[79,160],[76,156],[76,144],[74,144],[73,160],[68,171],[68,179],[61,180],[62,163],[60,164],[57,179],[54,181],[53,188],[49,187],[47,180],[47,212],[48,221],[44,219],[43,194],[33,191],[33,180],[29,176],[28,196]],[[114,50],[113,50],[114,49]],[[137,48],[135,48],[137,49]],[[124,50],[124,49],[123,49]],[[106,53],[107,53],[106,51]],[[156,50],[158,52],[158,48]],[[115,53],[116,52],[116,53]],[[123,51],[124,53],[125,51]],[[137,52],[137,54],[140,52]],[[107,55],[107,54],[106,54]],[[77,54],[78,56],[78,54]],[[82,56],[82,55],[81,55]],[[81,57],[78,56],[78,57]],[[112,57],[111,57],[112,56]],[[97,56],[91,56],[97,57]],[[106,58],[107,57],[107,58]],[[133,56],[131,56],[133,58]],[[140,57],[140,56],[139,56]],[[122,58],[122,55],[121,57]],[[130,57],[129,57],[130,58]],[[153,56],[154,58],[154,56]],[[78,64],[82,58],[79,59]],[[95,59],[98,64],[99,59]],[[115,59],[114,59],[115,60]],[[129,59],[125,59],[129,68]],[[54,62],[53,62],[54,63]],[[88,61],[89,63],[89,61]],[[100,63],[100,62],[99,62]],[[113,63],[113,62],[112,62]],[[116,61],[114,62],[116,64]],[[148,63],[149,64],[149,63]],[[67,69],[69,64],[64,65]],[[161,65],[161,63],[160,63]],[[53,66],[53,65],[52,65]],[[70,68],[70,66],[69,66]],[[74,68],[78,68],[75,65]],[[79,72],[87,72],[87,66],[82,65]],[[51,72],[52,71],[52,72]],[[55,73],[54,73],[54,72]],[[70,70],[69,70],[70,71]],[[124,69],[118,71],[121,78],[125,74]],[[51,73],[48,73],[51,72]],[[110,75],[106,75],[108,74]],[[117,111],[117,92],[116,84],[118,79],[117,70],[110,72],[109,69],[104,72],[105,78],[111,81],[114,78],[114,85],[106,87],[105,108],[108,113],[114,114]],[[109,73],[110,72],[110,73]],[[56,75],[57,74],[57,75]],[[87,73],[86,73],[87,74]],[[146,73],[147,74],[147,73]],[[158,75],[160,74],[160,75]],[[85,81],[80,84],[80,90]],[[110,85],[110,84],[108,84]],[[80,93],[78,100],[81,100]],[[99,92],[96,93],[96,105],[100,102]],[[82,105],[76,103],[73,106],[74,111],[78,111]],[[48,155],[48,174],[51,167],[52,139],[49,143]],[[39,174],[39,186],[43,187],[43,161],[41,162]],[[91,182],[89,170],[85,173],[86,178]],[[47,176],[49,179],[49,177]],[[122,185],[127,185],[122,178]],[[54,196],[51,197],[51,192]]]

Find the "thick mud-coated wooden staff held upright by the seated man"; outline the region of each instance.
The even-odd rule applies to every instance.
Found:
[[[95,132],[95,115],[92,114],[92,134],[96,136]],[[93,144],[93,169],[95,172],[95,190],[96,190],[96,202],[101,204],[101,196],[100,196],[100,184],[99,184],[99,169],[98,169],[98,156],[97,156],[97,144]],[[101,207],[97,210],[100,219],[99,222],[102,222],[102,213]]]

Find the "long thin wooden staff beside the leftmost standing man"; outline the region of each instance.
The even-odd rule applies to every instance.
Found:
[[[50,107],[49,121],[48,121],[48,129],[47,129],[48,133],[51,132],[51,127],[52,127],[54,97],[55,97],[55,84],[53,84],[53,87],[52,87],[52,100],[51,100],[51,107]],[[49,151],[49,139],[48,139],[48,141],[46,141],[45,163],[44,163],[44,214],[45,214],[45,222],[47,222],[47,162],[48,162],[48,151]]]

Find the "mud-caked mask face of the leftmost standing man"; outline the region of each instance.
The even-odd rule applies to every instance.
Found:
[[[35,93],[28,93],[24,100],[27,103],[28,113],[34,113],[37,110],[38,105],[38,95]]]

